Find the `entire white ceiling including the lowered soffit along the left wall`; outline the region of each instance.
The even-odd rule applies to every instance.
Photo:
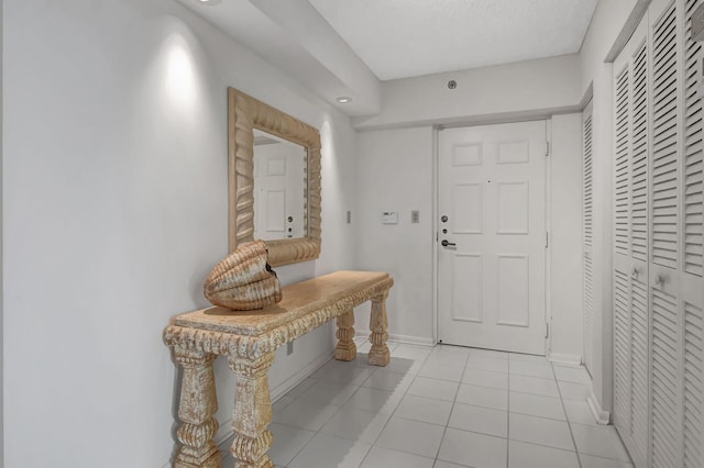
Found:
[[[597,3],[176,1],[351,116],[381,110],[385,80],[576,53]]]

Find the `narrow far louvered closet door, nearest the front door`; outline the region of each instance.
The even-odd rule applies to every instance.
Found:
[[[582,113],[582,250],[584,254],[584,366],[591,372],[594,360],[594,188],[592,170],[592,103]]]

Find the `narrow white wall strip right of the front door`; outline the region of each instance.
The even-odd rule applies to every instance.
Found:
[[[552,118],[550,165],[550,357],[579,363],[583,353],[582,114]]]

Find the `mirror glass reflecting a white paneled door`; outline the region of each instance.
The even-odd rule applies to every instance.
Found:
[[[254,238],[308,235],[306,160],[304,146],[254,129]]]

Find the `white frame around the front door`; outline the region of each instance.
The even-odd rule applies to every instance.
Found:
[[[546,311],[544,322],[548,326],[547,337],[544,338],[544,353],[546,357],[550,359],[550,350],[552,347],[552,301],[550,300],[550,285],[551,274],[550,264],[552,260],[552,241],[550,233],[552,232],[552,216],[550,213],[551,202],[550,196],[552,193],[552,118],[539,118],[539,119],[524,119],[524,120],[506,120],[506,121],[491,121],[491,122],[465,122],[448,125],[433,125],[432,129],[432,343],[438,344],[438,330],[440,326],[439,320],[439,307],[438,307],[438,243],[440,242],[440,223],[438,221],[438,213],[440,212],[440,132],[444,129],[455,127],[471,127],[471,126],[485,126],[497,125],[507,123],[524,123],[524,122],[546,122],[546,142],[548,143],[548,155],[546,156],[546,197],[544,197],[544,231],[548,236],[548,248],[544,249],[546,261],[546,277],[544,277],[544,294],[546,294]]]

